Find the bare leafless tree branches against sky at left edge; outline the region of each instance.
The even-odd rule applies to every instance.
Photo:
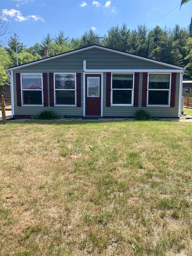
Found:
[[[11,23],[5,17],[4,12],[0,12],[0,46],[4,44],[4,40],[7,34],[12,33],[13,28],[11,27]]]

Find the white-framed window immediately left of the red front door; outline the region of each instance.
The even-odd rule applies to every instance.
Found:
[[[76,105],[76,74],[54,73],[55,105]]]

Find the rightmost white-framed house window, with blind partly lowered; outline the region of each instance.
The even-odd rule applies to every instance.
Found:
[[[149,74],[148,106],[170,105],[170,74]]]

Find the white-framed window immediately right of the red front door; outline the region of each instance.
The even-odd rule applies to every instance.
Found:
[[[133,105],[133,74],[112,74],[112,105]]]

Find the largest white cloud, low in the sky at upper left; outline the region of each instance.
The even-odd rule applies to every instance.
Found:
[[[15,9],[10,9],[10,10],[3,9],[3,14],[5,16],[14,17],[15,21],[19,21],[19,22],[26,21],[26,20],[44,21],[44,19],[42,19],[37,15],[22,16],[21,12]]]

